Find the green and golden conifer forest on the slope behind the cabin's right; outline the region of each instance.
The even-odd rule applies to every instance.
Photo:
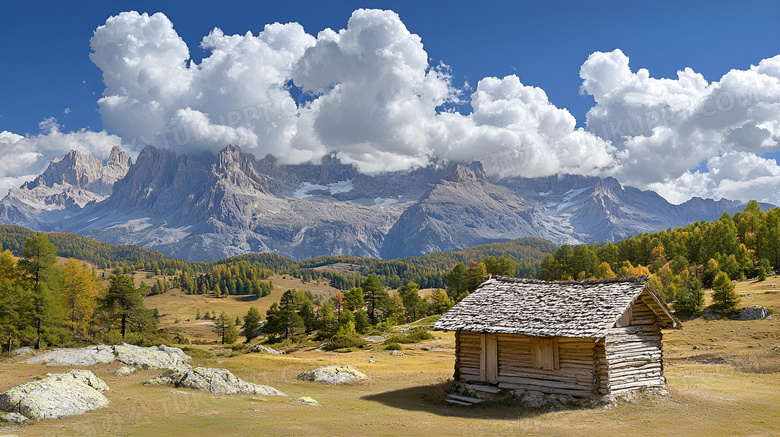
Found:
[[[780,208],[762,211],[751,201],[715,222],[643,233],[616,243],[561,246],[540,265],[547,280],[653,275],[650,286],[677,310],[697,311],[703,289],[718,305],[738,303],[732,280],[758,278],[780,268]]]

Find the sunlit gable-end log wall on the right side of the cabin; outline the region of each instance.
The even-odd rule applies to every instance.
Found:
[[[607,390],[615,394],[666,385],[661,328],[641,300],[631,308],[631,325],[612,328],[605,339]]]

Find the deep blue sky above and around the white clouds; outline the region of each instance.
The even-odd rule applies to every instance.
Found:
[[[441,62],[450,68],[450,85],[455,92],[461,91],[459,110],[464,115],[472,111],[469,95],[480,80],[516,75],[523,86],[543,89],[551,105],[567,109],[577,127],[588,127],[585,114],[595,101],[589,95],[592,92],[580,92],[580,67],[595,52],[620,49],[630,58],[631,72],[645,68],[651,78],[677,79],[679,70],[691,68],[707,82],[719,81],[732,69],[748,70],[780,53],[780,3],[769,1],[3,2],[0,132],[35,136],[40,132],[39,123],[54,117],[62,132],[105,130],[126,141],[125,126],[104,123],[98,112],[98,99],[106,86],[100,68],[89,58],[95,29],[123,11],[165,14],[188,46],[191,60],[198,64],[211,54],[199,44],[214,28],[225,35],[247,31],[257,35],[268,23],[297,22],[316,37],[325,28],[345,29],[358,8],[391,9],[398,14],[408,31],[421,38],[430,66]],[[615,142],[615,147],[620,152],[624,145]],[[349,150],[349,146],[342,149]],[[776,149],[764,145],[750,152],[774,158]],[[723,154],[730,152],[728,147],[720,147],[710,153],[713,156],[695,159],[696,165],[685,171],[693,171],[693,176],[696,170],[703,174],[707,163],[713,166],[715,159],[729,158]],[[349,158],[349,153],[346,155]],[[360,162],[357,157],[354,161]],[[679,179],[685,176],[682,171],[641,180],[627,176],[632,174],[630,169],[610,171],[599,174],[614,175],[621,182],[662,194],[666,190],[667,198],[690,197],[690,193],[673,193],[690,185],[690,181]],[[593,169],[582,172],[595,174]],[[670,181],[677,182],[670,187]],[[702,187],[709,184],[709,188],[702,188],[703,195],[729,193],[717,191],[713,186],[717,181],[700,182]],[[769,200],[773,195],[764,198]]]

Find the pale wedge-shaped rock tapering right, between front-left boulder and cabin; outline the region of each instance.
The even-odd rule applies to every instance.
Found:
[[[226,369],[178,367],[167,369],[160,376],[146,381],[147,385],[171,385],[178,388],[203,390],[214,394],[249,393],[261,396],[287,396],[267,385],[246,382]]]

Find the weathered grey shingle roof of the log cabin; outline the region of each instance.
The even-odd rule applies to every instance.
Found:
[[[448,331],[601,338],[643,291],[661,318],[679,321],[647,289],[647,276],[589,281],[489,279],[433,326]]]

